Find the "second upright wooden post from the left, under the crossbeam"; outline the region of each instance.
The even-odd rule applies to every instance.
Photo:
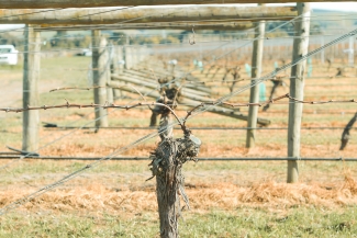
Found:
[[[94,92],[94,103],[103,105],[107,101],[107,81],[108,77],[105,72],[109,67],[107,67],[109,60],[104,52],[107,49],[107,41],[101,37],[99,30],[93,30],[92,34],[92,75],[93,75],[93,86],[104,87],[97,88]],[[108,126],[108,111],[107,109],[94,109],[96,112],[96,127],[107,127]]]

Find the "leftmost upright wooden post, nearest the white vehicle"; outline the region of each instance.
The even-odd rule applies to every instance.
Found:
[[[38,105],[38,79],[41,63],[41,33],[26,25],[24,31],[25,45],[23,57],[23,107]],[[30,110],[23,112],[22,150],[36,151],[38,149],[40,112]]]

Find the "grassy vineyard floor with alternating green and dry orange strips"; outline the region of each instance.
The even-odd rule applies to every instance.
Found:
[[[91,91],[48,92],[58,87],[88,87],[89,59],[66,57],[43,60],[40,104],[91,103]],[[56,68],[60,66],[59,68]],[[272,66],[272,64],[271,64]],[[69,70],[71,69],[71,70]],[[1,106],[21,106],[21,68],[0,68],[4,79]],[[60,70],[62,73],[53,73]],[[267,69],[268,71],[268,69]],[[325,69],[306,79],[306,100],[356,98],[355,78],[331,78]],[[349,76],[354,71],[347,71]],[[194,75],[194,73],[193,73]],[[196,73],[201,77],[202,75]],[[60,78],[58,80],[57,78]],[[202,79],[203,80],[203,79]],[[286,79],[285,81],[289,81]],[[236,87],[246,84],[239,82]],[[338,86],[341,83],[341,86]],[[347,86],[346,86],[347,84]],[[350,87],[348,87],[350,84]],[[271,88],[266,82],[267,92]],[[219,93],[227,87],[217,83]],[[354,88],[354,90],[352,90]],[[289,87],[279,88],[277,95]],[[16,93],[10,93],[16,92]],[[2,93],[2,92],[1,92]],[[136,94],[116,103],[137,100]],[[244,92],[232,102],[246,102]],[[271,121],[269,127],[288,126],[288,104],[272,104],[259,116]],[[247,114],[247,107],[241,112]],[[357,133],[341,151],[342,129],[356,113],[355,103],[305,105],[301,157],[356,158]],[[186,109],[179,107],[179,116]],[[110,110],[111,126],[148,126],[147,109]],[[92,109],[46,110],[41,121],[59,126],[93,126]],[[202,113],[192,117],[189,127],[245,127],[246,122]],[[269,128],[268,127],[268,128]],[[0,151],[7,145],[21,148],[22,115],[0,113]],[[153,131],[141,129],[58,129],[41,127],[41,156],[103,157],[115,152]],[[202,140],[200,157],[286,157],[287,131],[258,131],[256,147],[245,148],[245,131],[193,131]],[[180,137],[180,131],[175,131]],[[62,138],[63,137],[63,138]],[[55,139],[56,143],[52,143]],[[153,138],[118,156],[148,156],[158,143]],[[86,167],[89,161],[1,160],[1,207]],[[148,161],[105,161],[57,189],[49,191],[0,217],[0,237],[158,237],[155,181]],[[198,161],[185,165],[187,194],[191,209],[180,219],[181,237],[354,237],[357,234],[357,163],[345,161],[299,161],[300,181],[286,183],[286,161]]]

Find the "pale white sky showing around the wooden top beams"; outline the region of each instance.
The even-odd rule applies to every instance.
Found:
[[[288,4],[268,4],[268,5],[294,5],[295,3]],[[243,5],[256,5],[256,4],[242,4]],[[167,8],[167,7],[166,7]],[[357,14],[357,2],[311,2],[312,10],[322,9],[322,10],[335,10],[335,11],[348,11],[356,12]],[[3,29],[15,29],[22,27],[23,25],[13,25],[13,24],[0,24],[0,30]]]

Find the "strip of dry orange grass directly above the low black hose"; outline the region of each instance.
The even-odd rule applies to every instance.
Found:
[[[144,135],[147,131],[136,131],[136,136]],[[110,134],[113,132],[101,131],[100,136],[107,139],[112,138]],[[129,131],[125,132],[115,132],[115,135],[130,134]],[[212,133],[214,136],[219,136],[216,133]],[[71,140],[63,141],[60,145],[55,147],[47,147],[42,149],[41,155],[47,156],[105,156],[121,147],[126,146],[124,141],[111,140],[102,145],[96,144],[83,144],[83,140],[90,135],[74,135]],[[79,143],[78,143],[79,141]],[[98,140],[100,141],[100,140]],[[133,140],[134,141],[134,138]],[[204,141],[204,139],[203,139]],[[339,141],[339,140],[337,140]],[[114,145],[118,143],[116,145]],[[131,148],[130,150],[119,155],[119,156],[140,156],[147,157],[150,151],[154,150],[157,140],[152,140],[150,143],[141,144]],[[357,151],[357,145],[349,144],[348,149],[345,151],[338,151],[339,144],[325,144],[325,145],[301,145],[301,155],[302,157],[326,157],[326,158],[355,158],[355,152]],[[285,157],[287,155],[287,146],[269,143],[268,145],[257,145],[255,148],[246,149],[243,146],[232,146],[232,145],[217,145],[214,141],[205,141],[200,150],[200,157]]]

